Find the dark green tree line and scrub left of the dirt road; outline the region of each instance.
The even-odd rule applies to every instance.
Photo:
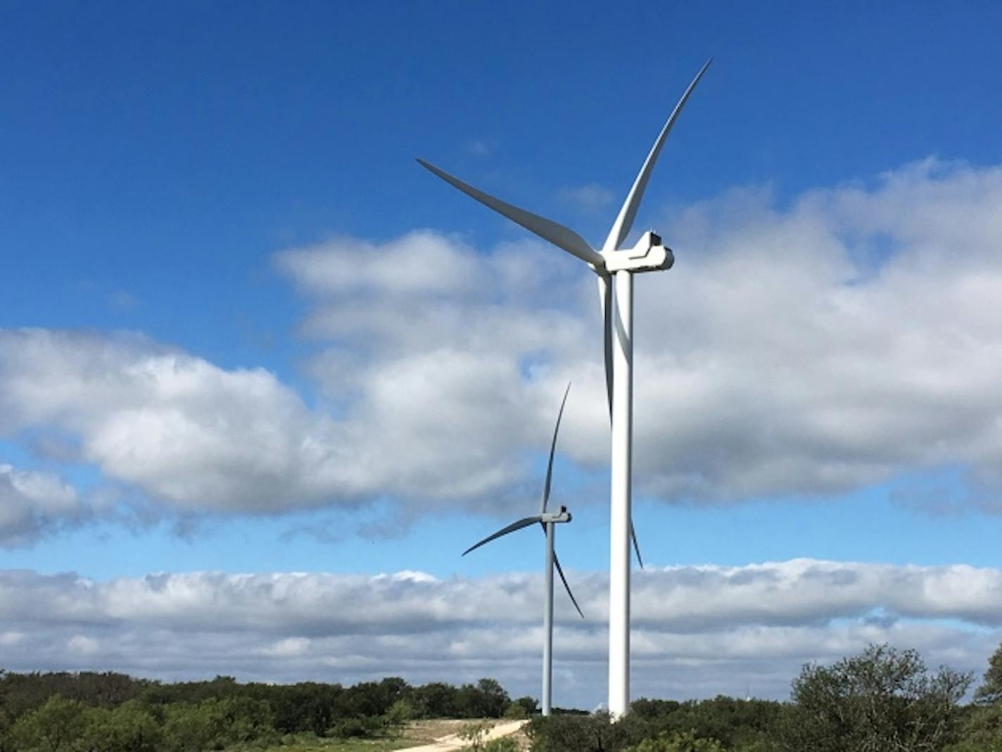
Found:
[[[527,716],[494,679],[411,686],[389,677],[351,687],[241,684],[232,677],[163,684],[112,672],[0,670],[0,752],[201,752],[297,735],[371,737],[412,719]]]

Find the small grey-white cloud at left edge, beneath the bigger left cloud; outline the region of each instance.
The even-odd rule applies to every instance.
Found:
[[[88,516],[76,489],[57,475],[0,464],[0,547],[30,545]]]

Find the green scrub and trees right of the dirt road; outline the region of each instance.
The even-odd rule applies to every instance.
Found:
[[[1002,752],[1002,646],[977,703],[968,674],[930,672],[915,651],[871,646],[805,666],[787,703],[636,700],[608,716],[535,718],[535,752]]]

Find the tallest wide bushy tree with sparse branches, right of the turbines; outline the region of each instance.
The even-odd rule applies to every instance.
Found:
[[[953,741],[970,674],[930,675],[914,650],[871,645],[794,680],[787,746],[812,752],[937,752]]]

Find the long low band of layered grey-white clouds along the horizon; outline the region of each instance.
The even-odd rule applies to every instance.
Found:
[[[569,573],[587,619],[557,603],[559,702],[605,692],[607,579]],[[873,642],[931,665],[984,670],[1002,639],[1002,572],[795,560],[636,574],[634,696],[786,697],[805,662]],[[11,670],[415,683],[496,676],[538,693],[541,578],[418,572],[156,574],[95,582],[0,572],[0,657]],[[499,646],[503,646],[499,648]]]

